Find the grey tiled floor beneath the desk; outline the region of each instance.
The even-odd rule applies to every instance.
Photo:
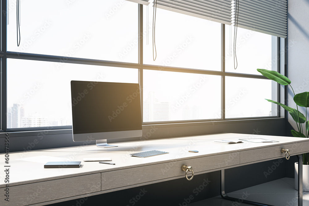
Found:
[[[275,206],[298,205],[298,191],[294,189],[294,179],[283,178],[228,193],[230,197]],[[188,206],[250,206],[249,204],[223,200],[220,196],[189,204]],[[303,206],[309,206],[309,192],[303,192]]]

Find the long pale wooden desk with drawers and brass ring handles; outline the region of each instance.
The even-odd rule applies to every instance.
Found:
[[[217,144],[214,140],[265,138],[279,142]],[[86,142],[85,142],[86,143]],[[214,134],[117,143],[118,147],[95,145],[43,149],[9,153],[10,167],[1,163],[1,205],[46,205],[131,187],[185,178],[181,166],[192,166],[194,174],[223,170],[284,157],[281,148],[291,155],[309,152],[309,139],[246,134]],[[130,153],[161,150],[168,154],[149,158],[131,157]],[[188,150],[198,150],[190,153]],[[42,156],[43,160],[42,160]],[[53,158],[52,158],[53,157]],[[83,162],[83,158],[110,157],[116,165]],[[5,154],[0,155],[4,162]],[[53,160],[51,160],[52,158]],[[60,159],[59,159],[60,158]],[[63,160],[82,161],[80,168],[49,168],[44,163]],[[9,202],[3,198],[6,187],[3,168],[9,168]],[[302,194],[302,193],[301,193]]]

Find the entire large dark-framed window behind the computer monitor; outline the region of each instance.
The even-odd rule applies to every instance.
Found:
[[[233,26],[157,8],[154,47],[152,2],[21,1],[19,27],[6,8],[3,131],[71,128],[71,80],[140,83],[143,124],[278,115],[256,71],[277,70],[277,37],[238,28],[234,51]]]

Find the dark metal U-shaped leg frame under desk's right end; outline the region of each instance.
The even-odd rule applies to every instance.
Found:
[[[298,154],[298,205],[302,206],[303,205],[303,155]],[[224,170],[221,170],[221,177],[220,177],[220,183],[221,183],[221,197],[225,200],[233,200],[237,201],[240,203],[246,203],[246,204],[252,204],[252,205],[258,205],[258,206],[273,206],[269,204],[262,204],[262,203],[257,203],[257,202],[252,202],[249,200],[242,200],[234,197],[229,197],[225,193],[225,188],[224,188]]]

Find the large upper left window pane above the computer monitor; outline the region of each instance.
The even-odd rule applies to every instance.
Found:
[[[9,0],[7,50],[138,63],[138,7],[128,1]],[[125,35],[124,35],[125,34]]]

